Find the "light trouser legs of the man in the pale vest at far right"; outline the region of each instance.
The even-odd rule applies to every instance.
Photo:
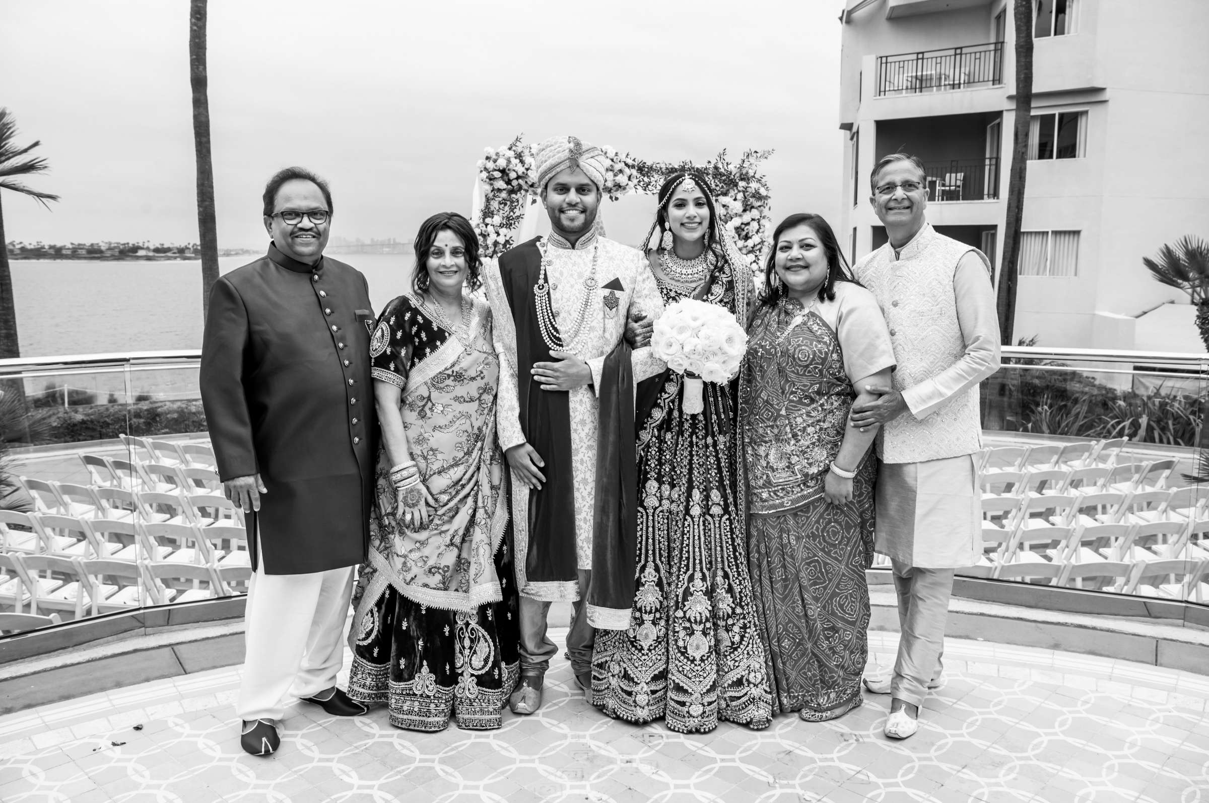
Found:
[[[929,682],[941,676],[944,624],[949,618],[955,570],[891,563],[901,635],[890,696],[922,708]]]

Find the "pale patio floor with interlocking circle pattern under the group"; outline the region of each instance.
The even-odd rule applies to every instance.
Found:
[[[556,636],[557,640],[561,641]],[[872,633],[883,661],[897,635]],[[392,728],[296,706],[282,750],[239,750],[238,669],[0,717],[0,798],[59,801],[1209,802],[1209,677],[950,639],[910,740],[887,698],[844,718],[686,737],[597,714],[557,659],[538,715],[494,732]]]

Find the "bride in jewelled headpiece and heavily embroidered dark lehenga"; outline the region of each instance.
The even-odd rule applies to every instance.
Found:
[[[701,175],[664,182],[656,228],[649,260],[664,304],[707,301],[742,322],[752,275],[722,239]],[[693,414],[681,409],[682,383],[665,371],[638,385],[637,592],[627,630],[596,632],[592,702],[684,733],[719,720],[763,728],[769,686],[735,494],[737,383],[706,383],[705,409]]]

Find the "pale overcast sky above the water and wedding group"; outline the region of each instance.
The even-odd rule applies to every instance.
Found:
[[[332,233],[410,239],[469,214],[484,146],[577,134],[648,159],[775,149],[774,217],[839,209],[838,0],[210,0],[219,245],[259,248],[288,164]],[[0,105],[40,139],[46,211],[8,239],[193,242],[187,0],[2,0]]]

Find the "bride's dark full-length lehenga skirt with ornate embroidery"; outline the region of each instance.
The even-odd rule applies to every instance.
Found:
[[[627,630],[596,632],[592,702],[682,733],[719,720],[763,728],[771,703],[735,494],[735,384],[706,383],[695,414],[681,385],[667,372],[638,421],[637,592]]]

